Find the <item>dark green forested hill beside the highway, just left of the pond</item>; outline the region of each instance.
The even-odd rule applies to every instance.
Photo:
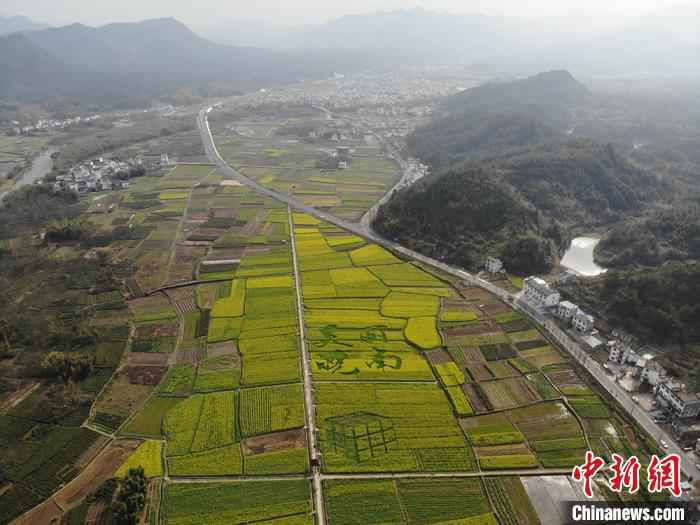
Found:
[[[513,272],[541,272],[568,243],[565,230],[614,222],[664,191],[611,146],[538,144],[437,172],[395,194],[374,227],[469,268],[496,254]]]

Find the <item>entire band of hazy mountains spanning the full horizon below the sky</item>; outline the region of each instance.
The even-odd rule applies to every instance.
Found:
[[[578,76],[700,76],[699,19],[696,8],[667,10],[613,30],[418,9],[293,28],[221,22],[198,36],[171,18],[37,29],[5,17],[0,99],[133,105],[182,87],[212,94],[407,65],[478,65],[511,78],[564,67]]]

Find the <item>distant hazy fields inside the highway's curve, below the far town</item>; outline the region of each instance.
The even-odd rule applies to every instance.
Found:
[[[226,161],[244,175],[300,202],[338,217],[359,220],[400,178],[396,163],[386,158],[371,135],[328,129],[318,110],[286,108],[286,119],[257,115],[234,126],[215,126],[216,144]],[[319,160],[338,146],[352,151],[347,169]]]

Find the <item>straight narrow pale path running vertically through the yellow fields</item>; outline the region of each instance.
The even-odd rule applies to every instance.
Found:
[[[318,445],[316,428],[316,403],[311,382],[311,357],[306,344],[304,327],[304,303],[301,295],[301,279],[299,277],[299,261],[297,260],[297,242],[294,235],[294,217],[292,208],[287,207],[289,219],[289,236],[292,246],[292,265],[294,268],[294,291],[296,292],[297,320],[299,322],[299,342],[301,345],[301,373],[304,376],[304,408],[306,414],[306,438],[309,441],[309,456],[311,458],[311,478],[313,483],[314,506],[316,507],[316,523],[326,525],[326,512],[323,504],[323,486],[321,483],[321,449]]]

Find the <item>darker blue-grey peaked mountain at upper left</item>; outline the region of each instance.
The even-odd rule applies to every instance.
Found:
[[[81,24],[0,37],[0,98],[119,101],[183,86],[261,86],[317,74],[280,51],[212,43],[171,19]]]

